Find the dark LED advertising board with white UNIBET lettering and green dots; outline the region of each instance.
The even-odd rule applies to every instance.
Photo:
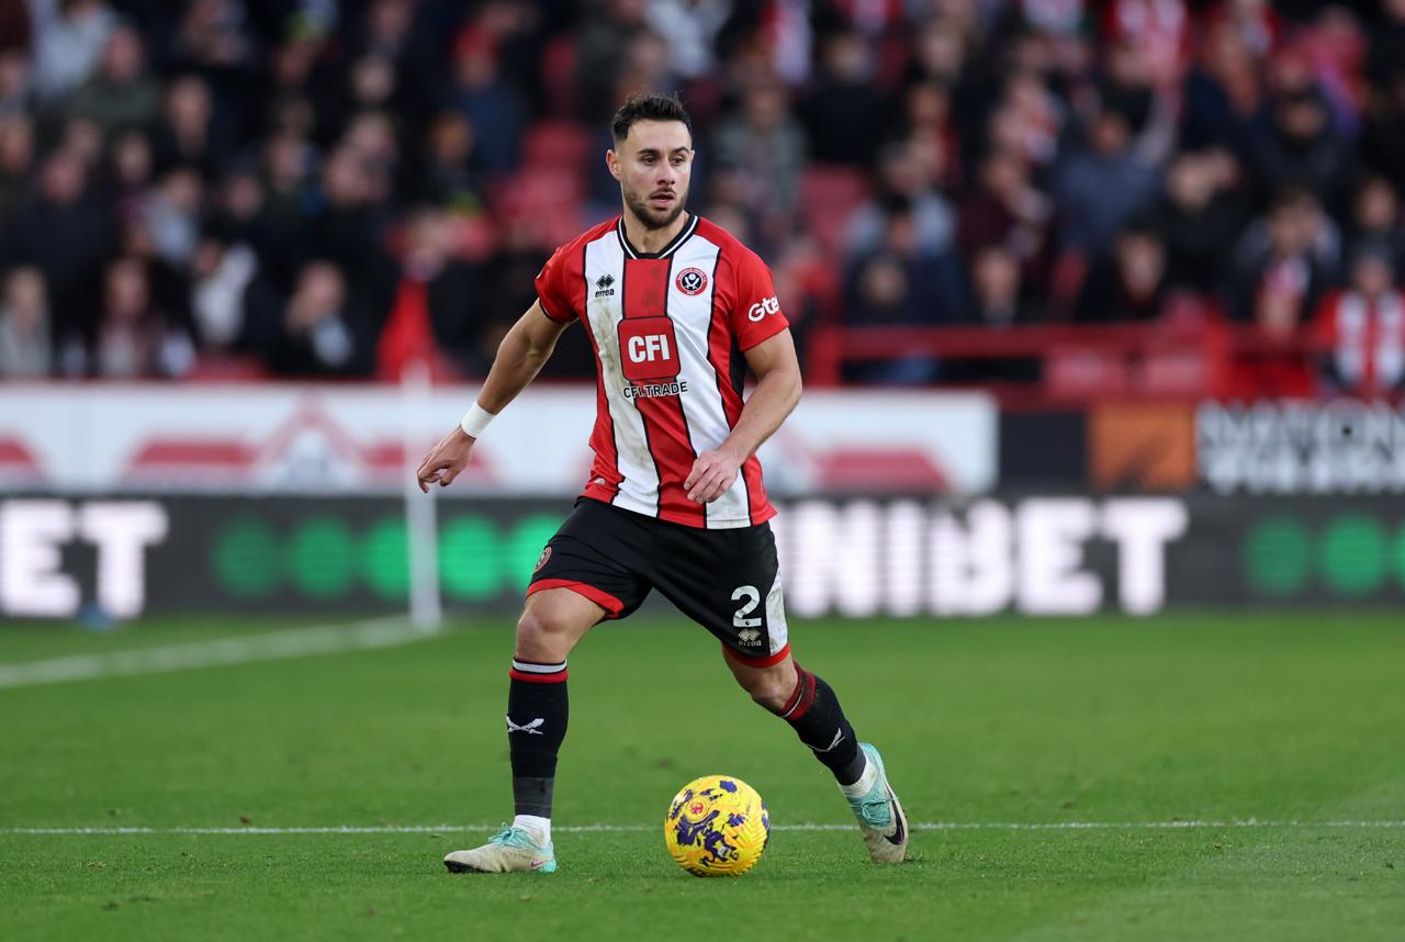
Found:
[[[440,502],[447,610],[516,612],[569,506]],[[812,498],[776,530],[797,617],[1405,602],[1405,509],[1385,496]],[[391,498],[10,498],[0,614],[405,610],[406,540]]]

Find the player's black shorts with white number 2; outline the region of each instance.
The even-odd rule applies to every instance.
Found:
[[[704,530],[580,498],[542,550],[527,595],[542,589],[579,592],[610,619],[629,616],[658,589],[742,664],[770,666],[790,652],[770,523]]]

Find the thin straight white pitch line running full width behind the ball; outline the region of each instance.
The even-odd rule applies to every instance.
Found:
[[[777,831],[851,831],[851,824],[777,824]],[[1405,821],[922,821],[913,831],[1176,831],[1184,828],[1405,828]],[[299,834],[441,834],[450,831],[492,831],[490,824],[382,824],[341,827],[242,827],[242,828],[0,828],[10,835],[299,835]],[[566,824],[554,825],[566,834],[655,831],[651,824]]]

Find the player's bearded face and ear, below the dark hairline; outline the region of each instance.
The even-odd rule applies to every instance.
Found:
[[[683,212],[693,176],[693,138],[681,121],[635,121],[606,155],[629,212],[649,229],[666,229]]]

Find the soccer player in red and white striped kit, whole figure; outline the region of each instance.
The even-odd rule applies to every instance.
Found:
[[[599,366],[594,464],[542,550],[517,621],[507,741],[516,817],[455,872],[556,869],[551,799],[566,735],[566,655],[658,589],[722,643],[738,683],[785,720],[835,775],[868,853],[902,860],[908,822],[878,751],[858,742],[839,697],[791,657],[777,575],[776,515],[756,449],[799,399],[799,364],[767,267],[684,209],[688,115],[674,96],[636,94],[606,153],[622,214],[556,249],[537,302],[509,330],[478,401],[420,464],[448,486],[488,423],[532,381],[561,333],[584,325]],[[746,367],[757,375],[742,399]]]

